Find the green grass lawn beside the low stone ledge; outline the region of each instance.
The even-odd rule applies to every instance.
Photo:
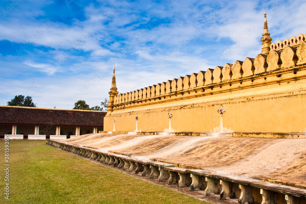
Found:
[[[0,140],[2,169],[4,142]],[[45,143],[9,141],[9,200],[4,198],[2,170],[0,203],[204,203]]]

